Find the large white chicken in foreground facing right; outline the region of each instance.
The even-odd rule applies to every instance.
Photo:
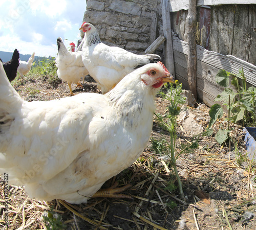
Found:
[[[25,185],[31,197],[86,202],[143,152],[155,96],[167,81],[174,79],[159,62],[138,68],[105,95],[27,102],[0,63],[0,173]]]

